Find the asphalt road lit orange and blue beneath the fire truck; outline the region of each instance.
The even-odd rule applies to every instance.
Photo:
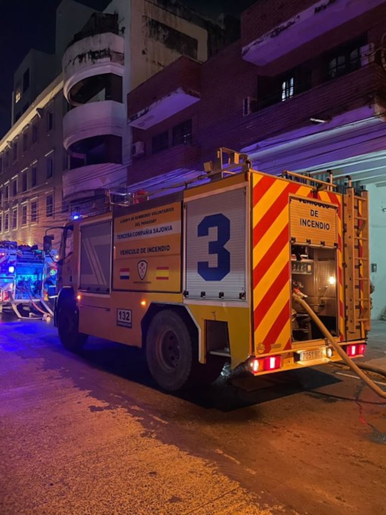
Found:
[[[386,322],[373,334],[386,365]],[[52,322],[3,315],[0,514],[381,515],[386,404],[350,375],[222,377],[174,396],[137,349],[90,338],[72,354]]]

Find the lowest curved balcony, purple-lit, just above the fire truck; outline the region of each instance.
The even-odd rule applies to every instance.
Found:
[[[73,168],[63,174],[63,198],[69,202],[94,196],[96,191],[110,190],[125,183],[126,166],[100,163]]]

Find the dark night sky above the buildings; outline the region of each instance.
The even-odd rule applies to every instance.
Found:
[[[30,48],[54,52],[55,11],[61,0],[0,0],[0,138],[10,128],[13,74]],[[173,0],[170,0],[174,3]],[[216,16],[238,15],[256,0],[184,0],[188,7]],[[103,9],[109,0],[82,0]]]

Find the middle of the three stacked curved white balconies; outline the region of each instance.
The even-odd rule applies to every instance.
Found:
[[[64,148],[68,150],[74,143],[93,136],[122,136],[125,125],[125,106],[114,100],[90,102],[76,107],[63,118]]]

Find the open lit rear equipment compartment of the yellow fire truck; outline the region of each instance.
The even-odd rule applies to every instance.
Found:
[[[338,334],[336,249],[291,246],[292,291],[300,295],[332,335]],[[292,340],[323,338],[304,308],[292,300]]]

